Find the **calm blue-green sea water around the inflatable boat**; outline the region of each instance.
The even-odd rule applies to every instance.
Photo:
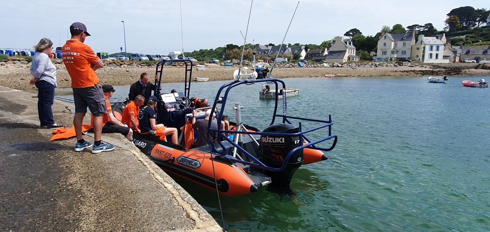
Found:
[[[465,88],[462,80],[471,78],[451,77],[446,84],[427,78],[284,79],[301,89],[287,99],[288,115],[331,114],[337,146],[327,161],[296,172],[294,195],[261,189],[221,196],[226,228],[490,231],[490,89]],[[224,83],[192,83],[191,95],[214,98]],[[167,92],[182,88],[164,85]],[[243,102],[243,122],[263,130],[273,102],[258,100],[260,88],[239,89],[230,104]],[[115,100],[128,89],[117,87]],[[231,107],[225,110],[234,119]],[[215,192],[179,183],[222,223]]]

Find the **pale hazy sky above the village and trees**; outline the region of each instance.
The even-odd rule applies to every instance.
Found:
[[[169,51],[210,49],[243,44],[252,1],[235,0],[104,0],[3,1],[0,48],[32,48],[43,37],[55,47],[69,39],[68,28],[80,21],[92,35],[85,43],[95,52],[168,54]],[[248,43],[280,44],[297,0],[255,0]],[[182,5],[182,8],[180,8]],[[383,25],[433,23],[442,30],[454,8],[490,8],[488,0],[326,1],[302,0],[284,43],[320,44],[352,28],[375,35]],[[182,9],[182,30],[181,30]],[[124,20],[124,27],[121,20]],[[183,37],[183,39],[182,39]],[[182,46],[183,45],[183,46]]]

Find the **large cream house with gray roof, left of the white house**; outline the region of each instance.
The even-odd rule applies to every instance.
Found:
[[[377,58],[388,60],[408,60],[411,55],[411,47],[415,44],[413,31],[391,34],[383,33],[378,40]]]

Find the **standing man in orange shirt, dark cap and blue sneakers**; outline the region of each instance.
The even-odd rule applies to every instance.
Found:
[[[102,117],[106,113],[104,93],[99,86],[99,78],[95,70],[104,67],[104,63],[93,52],[90,46],[84,44],[90,36],[87,27],[81,22],[70,25],[71,39],[62,47],[62,59],[71,78],[71,88],[75,101],[75,117],[73,125],[77,134],[76,151],[82,151],[93,144],[83,139],[82,121],[87,113],[87,107],[93,115],[94,144],[93,153],[113,150],[114,146],[101,141]]]

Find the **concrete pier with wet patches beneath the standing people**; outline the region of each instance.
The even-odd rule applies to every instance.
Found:
[[[116,149],[97,154],[50,142],[35,96],[0,86],[0,231],[222,231],[122,135],[103,134]],[[55,100],[55,122],[70,127],[65,106]]]

